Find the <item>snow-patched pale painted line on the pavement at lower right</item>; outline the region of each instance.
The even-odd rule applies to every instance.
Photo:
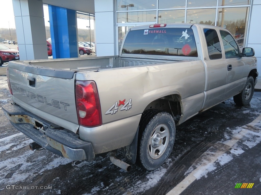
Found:
[[[167,195],[178,195],[182,193],[193,181],[198,180],[203,176],[207,177],[207,174],[214,171],[218,166],[223,166],[233,160],[234,155],[238,156],[244,153],[245,151],[238,146],[240,141],[245,140],[242,144],[248,146],[248,148],[252,148],[261,142],[261,132],[255,130],[255,127],[260,129],[260,120],[261,115],[243,127],[235,129],[227,128],[228,131],[232,132],[231,137],[227,136],[229,140],[216,142],[214,146],[204,152],[198,159],[198,164],[192,165],[187,170],[185,173],[186,178],[169,191]],[[226,153],[228,150],[231,154]],[[213,151],[215,152],[213,153]]]

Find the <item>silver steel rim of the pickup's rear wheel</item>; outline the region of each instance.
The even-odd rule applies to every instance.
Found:
[[[158,125],[152,132],[148,145],[148,152],[151,158],[160,158],[169,144],[169,128],[167,125]]]

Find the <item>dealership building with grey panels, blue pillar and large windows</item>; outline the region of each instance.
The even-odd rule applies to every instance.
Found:
[[[48,59],[43,5],[48,5],[54,58],[78,57],[76,18],[94,21],[97,56],[118,55],[131,27],[202,23],[230,31],[252,47],[261,68],[260,0],[12,0],[21,60]],[[89,26],[90,28],[90,26]],[[260,71],[259,71],[260,72]],[[260,75],[261,76],[261,75]]]

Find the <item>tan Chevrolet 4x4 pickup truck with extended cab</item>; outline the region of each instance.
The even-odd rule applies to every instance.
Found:
[[[119,56],[9,62],[13,103],[2,108],[34,142],[73,160],[115,149],[147,170],[161,166],[175,126],[234,97],[247,105],[257,82],[252,48],[240,51],[220,27],[153,24],[131,28]]]

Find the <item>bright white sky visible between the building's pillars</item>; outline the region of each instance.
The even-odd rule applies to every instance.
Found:
[[[8,8],[8,9],[7,9]],[[10,8],[10,9],[9,9]],[[45,26],[50,26],[49,24],[49,12],[48,6],[43,6],[44,8],[44,22]],[[0,0],[0,28],[15,28],[14,10],[12,0]],[[6,18],[3,20],[3,18]],[[88,29],[89,21],[77,18],[77,25],[80,29]],[[91,20],[91,29],[94,29],[93,20]]]

